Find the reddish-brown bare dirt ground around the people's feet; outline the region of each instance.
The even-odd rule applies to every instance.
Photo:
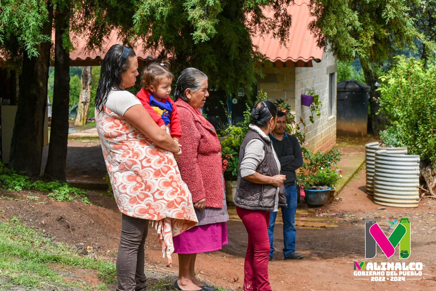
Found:
[[[327,206],[318,208],[308,208],[306,204],[300,203],[296,215],[296,250],[304,254],[303,260],[283,261],[283,253],[280,251],[283,246],[282,227],[276,225],[276,253],[269,264],[273,290],[435,290],[436,254],[433,250],[436,244],[436,201],[422,200],[418,208],[412,209],[379,209],[381,206],[373,203],[371,196],[364,192],[364,185],[362,170],[341,191],[341,200],[337,197]],[[0,196],[18,200],[0,200],[0,220],[20,217],[28,225],[50,233],[54,240],[71,244],[82,255],[104,257],[115,262],[114,250],[118,247],[121,215],[112,197],[90,192],[88,196],[93,205],[85,205],[78,201],[52,202],[47,196],[35,191],[3,191]],[[31,200],[27,196],[37,196],[39,200]],[[229,212],[229,244],[221,251],[199,254],[197,272],[201,280],[228,290],[242,290],[247,234],[232,207]],[[409,217],[412,223],[412,253],[409,259],[403,261],[422,262],[423,280],[354,280],[354,261],[364,261],[363,220],[367,214],[371,218],[375,217],[382,226],[388,226],[387,217]],[[176,277],[177,255],[173,255],[173,266],[168,267],[167,259],[162,258],[157,243],[156,231],[151,226],[146,240],[145,259],[146,270],[153,280],[156,280],[156,276],[171,279]],[[378,251],[377,256],[370,261],[386,260],[381,251]],[[399,259],[391,258],[389,261]],[[81,272],[65,271],[65,278],[71,280],[74,276],[81,276]],[[95,274],[87,276],[90,283],[98,281]],[[108,288],[115,290],[114,286]]]

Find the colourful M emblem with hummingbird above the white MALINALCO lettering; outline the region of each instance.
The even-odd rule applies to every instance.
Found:
[[[390,226],[385,229],[389,231],[394,229],[389,237],[385,236],[377,221],[374,218],[370,221],[369,216],[365,219],[365,259],[372,259],[377,254],[377,244],[386,257],[390,258],[395,254],[395,247],[400,244],[400,259],[405,259],[410,256],[410,222],[409,219],[403,217],[401,220],[387,219]],[[363,265],[362,265],[363,263]],[[361,270],[364,262],[358,264],[354,262],[354,270],[356,267]],[[362,266],[361,266],[362,265]]]

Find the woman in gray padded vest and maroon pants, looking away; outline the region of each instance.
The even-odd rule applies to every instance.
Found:
[[[271,291],[268,277],[269,212],[286,206],[280,162],[268,135],[276,127],[277,107],[262,100],[251,111],[249,132],[239,151],[236,212],[248,233],[244,263],[245,291]]]

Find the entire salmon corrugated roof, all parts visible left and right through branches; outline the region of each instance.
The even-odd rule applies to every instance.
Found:
[[[304,0],[295,0],[294,4],[288,7],[288,12],[292,15],[292,26],[290,28],[289,42],[286,47],[280,45],[280,41],[272,37],[272,34],[257,35],[253,37],[252,43],[259,48],[262,54],[272,61],[277,67],[311,67],[312,60],[321,61],[324,48],[317,47],[316,39],[310,34],[308,29],[309,22],[313,19],[307,3]],[[266,11],[267,17],[273,17],[272,11]],[[54,34],[52,36],[54,39]],[[101,50],[85,50],[86,40],[77,37],[73,41],[75,50],[70,53],[71,66],[90,66],[99,65],[111,47],[117,44],[118,34],[113,30],[109,38],[106,39]],[[141,42],[135,46],[135,52],[140,63],[147,60],[153,60],[151,51],[143,51]],[[3,66],[3,60],[0,56],[0,66]]]

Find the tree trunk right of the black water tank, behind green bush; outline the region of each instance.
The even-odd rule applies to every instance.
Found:
[[[375,71],[375,65],[373,62],[360,58],[360,63],[362,65],[366,84],[371,87],[371,90],[369,91],[370,114],[368,116],[368,129],[371,130],[373,135],[378,136],[381,131],[386,129],[387,124],[387,118],[385,115],[381,113],[377,114],[380,105],[378,105],[376,100],[381,97],[380,91],[375,91],[377,89],[375,84],[378,81],[378,75]]]

